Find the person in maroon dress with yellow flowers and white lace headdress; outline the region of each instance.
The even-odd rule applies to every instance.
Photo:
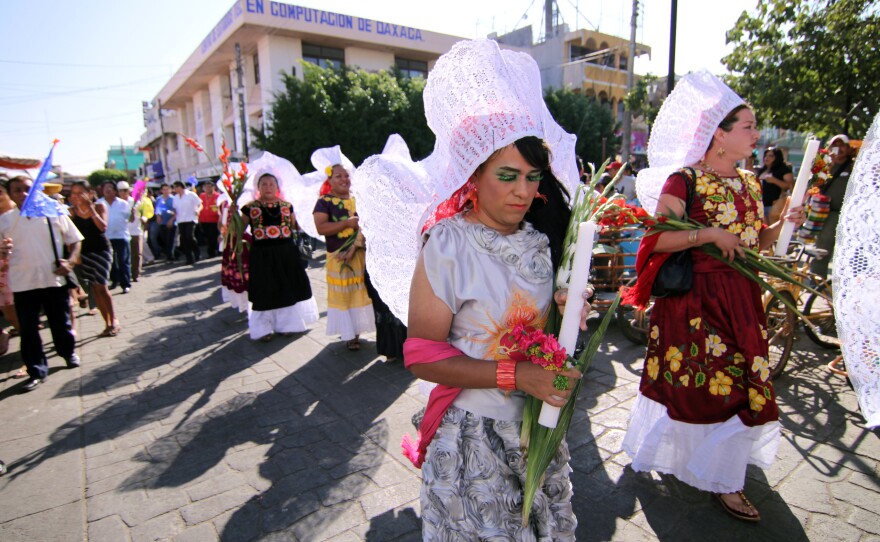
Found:
[[[760,181],[737,168],[758,142],[751,108],[706,72],[693,74],[680,85],[684,88],[676,99],[667,99],[664,130],[652,134],[657,147],[653,154],[649,149],[649,155],[662,156],[658,147],[674,146],[673,140],[686,140],[693,148],[694,143],[681,133],[695,104],[696,119],[690,123],[697,131],[693,140],[699,145],[701,133],[705,139],[696,149],[696,159],[679,155],[683,162],[663,184],[656,211],[687,215],[705,228],[646,235],[641,242],[636,289],[650,292],[665,258],[685,249],[692,249],[694,275],[687,293],[654,302],[645,367],[623,448],[632,457],[634,470],[672,474],[716,494],[723,508],[738,519],[758,521],[760,514],[742,491],[746,465],[768,468],[780,435],[761,289],[699,247],[714,245],[733,261],[744,257],[744,247],[768,248],[783,220],[764,222]],[[717,101],[707,105],[713,95]],[[688,103],[669,115],[682,101]],[[700,111],[700,106],[706,109]],[[654,162],[651,165],[656,167]],[[648,174],[639,182],[651,180]],[[656,180],[663,182],[662,177]],[[802,208],[788,213],[783,209],[782,216],[803,222]]]

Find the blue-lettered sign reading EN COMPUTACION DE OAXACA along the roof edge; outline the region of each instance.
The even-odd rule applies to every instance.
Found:
[[[409,26],[383,23],[381,21],[374,21],[372,19],[362,19],[360,17],[352,17],[351,15],[344,15],[342,13],[332,13],[320,9],[294,6],[281,2],[266,2],[265,0],[245,0],[245,6],[245,9],[247,9],[248,13],[254,13],[257,15],[268,14],[270,17],[275,17],[278,19],[293,19],[296,21],[303,21],[319,26],[357,30],[358,32],[376,34],[379,36],[387,36],[391,38],[399,38],[406,41],[425,41],[422,37],[421,30]],[[235,8],[238,8],[239,11],[241,10],[238,4],[233,6],[233,9]],[[230,10],[230,13],[232,13],[232,10]],[[227,13],[224,19],[230,17],[230,13]],[[237,17],[238,15],[234,16],[234,18]],[[234,19],[230,19],[229,25],[232,24],[232,20]],[[220,27],[222,24],[223,21],[221,21],[221,24],[218,24],[217,27]],[[225,28],[228,28],[228,25]],[[216,31],[217,28],[214,29],[214,33],[216,33]],[[211,36],[209,35],[208,37],[210,38]],[[207,40],[208,38],[205,39],[205,41]],[[205,46],[203,43],[202,52],[204,51]]]

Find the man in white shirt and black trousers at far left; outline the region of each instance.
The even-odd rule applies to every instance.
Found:
[[[9,181],[9,196],[18,207],[24,203],[30,187],[31,180],[27,177]],[[3,239],[0,258],[9,259],[9,287],[18,316],[21,358],[30,376],[22,390],[33,391],[49,374],[40,339],[41,311],[49,321],[55,351],[66,360],[68,367],[80,364],[70,322],[70,294],[65,275],[72,273],[70,262],[79,260],[83,237],[66,214],[57,218],[22,218],[16,208],[0,215],[0,238]],[[70,251],[67,260],[62,258],[63,245]]]

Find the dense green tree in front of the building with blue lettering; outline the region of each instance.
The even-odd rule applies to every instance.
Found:
[[[355,164],[379,153],[399,133],[413,158],[430,153],[434,136],[425,121],[422,78],[396,71],[369,73],[303,63],[304,80],[285,75],[266,133],[253,130],[256,145],[287,158],[302,172],[313,170],[315,149],[339,145]]]

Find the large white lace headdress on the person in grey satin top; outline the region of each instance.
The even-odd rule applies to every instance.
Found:
[[[424,101],[433,153],[420,162],[393,152],[371,156],[352,180],[370,279],[404,323],[422,226],[494,151],[539,137],[569,193],[578,183],[576,138],[550,115],[538,65],[526,53],[491,40],[456,43],[428,74]]]

